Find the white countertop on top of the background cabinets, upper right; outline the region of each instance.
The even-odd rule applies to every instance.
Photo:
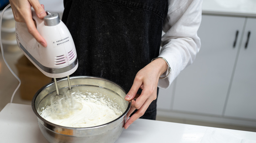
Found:
[[[256,18],[256,0],[203,0],[202,12]]]

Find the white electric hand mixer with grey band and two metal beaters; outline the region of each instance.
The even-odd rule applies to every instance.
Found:
[[[32,18],[41,36],[47,41],[47,47],[43,47],[28,32],[25,23],[15,23],[16,40],[24,55],[46,76],[52,77],[59,95],[56,78],[68,78],[69,89],[71,83],[69,75],[78,67],[75,44],[66,25],[60,20],[58,13],[49,13],[40,19],[33,8]],[[71,95],[71,91],[68,91]],[[77,92],[77,91],[75,91]],[[60,96],[53,100],[60,103]],[[61,104],[60,104],[61,105]],[[61,105],[61,107],[63,107]]]

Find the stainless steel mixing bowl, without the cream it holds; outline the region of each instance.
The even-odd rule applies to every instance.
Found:
[[[32,109],[38,119],[39,128],[50,143],[113,143],[121,135],[126,120],[126,114],[131,103],[124,100],[125,91],[117,84],[98,77],[74,76],[70,77],[72,87],[78,88],[82,93],[99,92],[118,105],[123,114],[103,125],[87,128],[71,128],[53,124],[43,119],[39,113],[50,105],[49,96],[55,94],[54,83],[49,83],[39,89],[32,99]],[[68,88],[67,78],[57,81],[58,88]]]

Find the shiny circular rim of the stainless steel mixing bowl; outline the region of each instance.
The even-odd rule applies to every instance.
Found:
[[[96,79],[100,79],[100,80],[105,80],[105,81],[107,81],[107,82],[110,82],[110,83],[116,85],[117,87],[119,87],[120,89],[122,89],[125,94],[127,94],[127,93],[125,92],[125,90],[124,90],[120,85],[118,85],[117,83],[115,83],[115,82],[113,82],[113,81],[110,81],[110,80],[108,80],[108,79],[106,79],[106,78],[96,77],[96,76],[71,76],[70,79],[72,79],[72,78],[96,78]],[[65,79],[67,79],[67,77],[57,79],[57,81],[65,80]],[[47,86],[49,86],[49,85],[52,85],[53,83],[54,83],[54,81],[52,81],[52,82],[50,82],[50,83],[44,85],[43,87],[41,87],[41,88],[34,94],[34,96],[33,96],[33,98],[32,98],[32,110],[33,110],[33,112],[35,113],[35,115],[36,115],[37,118],[39,118],[40,120],[42,120],[42,121],[46,122],[47,124],[49,124],[49,125],[51,125],[51,126],[54,126],[54,127],[65,128],[65,129],[70,129],[70,130],[85,130],[85,129],[88,130],[88,129],[101,128],[101,127],[104,127],[104,126],[107,126],[107,125],[109,125],[109,124],[112,124],[112,123],[114,123],[115,121],[117,121],[117,120],[123,118],[124,116],[126,116],[126,114],[128,113],[128,111],[129,111],[130,108],[131,108],[131,101],[128,101],[129,103],[128,103],[127,109],[125,110],[125,112],[124,112],[121,116],[119,116],[117,119],[115,119],[115,120],[113,120],[113,121],[111,121],[111,122],[108,122],[108,123],[105,123],[105,124],[102,124],[102,125],[98,125],[98,126],[76,128],[76,127],[66,127],[66,126],[57,125],[57,124],[54,124],[54,123],[52,123],[52,122],[49,122],[48,120],[46,120],[46,119],[44,119],[43,117],[41,117],[41,116],[38,114],[38,112],[36,111],[35,105],[34,105],[34,104],[35,104],[35,99],[36,99],[36,97],[38,96],[38,94],[39,94],[45,87],[47,87]]]

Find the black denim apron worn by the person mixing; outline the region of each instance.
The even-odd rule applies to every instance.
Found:
[[[64,0],[64,8],[79,65],[71,76],[103,77],[128,92],[159,55],[168,0]],[[141,118],[156,119],[156,102]]]

